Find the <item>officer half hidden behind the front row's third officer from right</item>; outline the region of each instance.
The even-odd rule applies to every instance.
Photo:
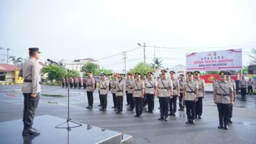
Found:
[[[174,71],[170,71],[170,74],[176,74]],[[169,100],[169,108],[170,108],[170,114],[171,116],[176,116],[176,109],[177,109],[177,97],[179,96],[179,80],[178,79],[171,79],[172,80],[172,84],[173,84],[173,95],[172,95],[172,99]]]

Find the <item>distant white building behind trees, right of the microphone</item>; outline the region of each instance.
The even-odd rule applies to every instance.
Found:
[[[92,58],[84,58],[84,59],[79,59],[79,60],[67,60],[67,59],[62,59],[59,61],[60,65],[63,67],[70,69],[70,70],[76,70],[76,71],[81,71],[81,68],[85,63],[92,62],[95,63],[99,66],[99,61],[93,60]]]

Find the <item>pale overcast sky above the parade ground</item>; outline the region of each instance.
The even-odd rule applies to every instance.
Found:
[[[93,58],[124,69],[123,51],[146,47],[147,63],[186,65],[186,53],[243,49],[243,65],[256,48],[256,1],[0,0],[0,54],[26,57],[39,47],[47,58]],[[152,46],[152,47],[150,47]],[[143,61],[143,48],[127,52],[127,69]]]

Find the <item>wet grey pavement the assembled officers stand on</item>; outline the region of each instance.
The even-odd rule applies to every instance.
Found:
[[[22,118],[23,95],[20,88],[19,84],[0,86],[0,122]],[[159,118],[157,99],[155,99],[153,114],[143,113],[141,118],[135,118],[134,112],[126,110],[125,97],[122,115],[117,115],[111,108],[113,106],[111,93],[108,95],[106,112],[99,111],[97,90],[93,98],[93,109],[86,109],[85,107],[88,106],[86,91],[70,89],[72,120],[124,132],[133,136],[134,143],[256,143],[255,95],[237,99],[234,104],[234,123],[229,125],[228,131],[217,129],[218,111],[211,93],[207,93],[204,99],[202,120],[195,120],[195,125],[185,124],[186,111],[177,111],[177,116],[170,117],[168,122],[159,122],[157,120]],[[67,118],[67,103],[66,88],[42,85],[36,116],[52,115]],[[179,104],[177,106],[179,107]]]

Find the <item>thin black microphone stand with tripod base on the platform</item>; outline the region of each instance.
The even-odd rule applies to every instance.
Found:
[[[54,65],[57,65],[56,63],[53,63],[53,64],[54,64]],[[68,69],[65,68],[65,67],[61,67],[60,65],[57,65],[57,66],[60,67],[60,68],[65,69],[65,70],[67,70],[67,72],[68,72],[68,79],[69,79],[69,73],[70,73],[71,70],[68,70]],[[55,127],[56,129],[70,129],[70,128],[81,127],[81,126],[82,126],[82,124],[79,124],[79,123],[77,123],[77,122],[73,122],[73,121],[71,120],[70,116],[69,116],[69,87],[70,87],[70,84],[68,83],[68,118],[67,118],[67,121],[61,123],[60,125],[57,125],[57,126]],[[69,122],[70,122],[70,123],[73,123],[73,124],[77,124],[77,125],[76,125],[76,126],[73,126],[73,127],[70,127],[69,124],[68,124]],[[66,124],[66,123],[67,123],[67,127],[60,127],[61,125]]]

